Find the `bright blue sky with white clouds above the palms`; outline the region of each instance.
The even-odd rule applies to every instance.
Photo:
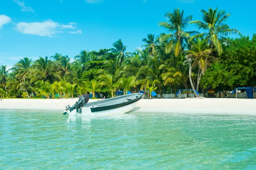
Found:
[[[201,20],[201,9],[224,9],[231,14],[230,28],[252,37],[255,5],[254,0],[0,0],[0,65],[11,68],[24,57],[35,61],[55,53],[73,59],[81,50],[112,48],[118,39],[133,52],[147,34],[166,32],[157,23],[177,7],[193,20]]]

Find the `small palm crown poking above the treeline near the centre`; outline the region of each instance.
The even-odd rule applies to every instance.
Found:
[[[116,42],[113,43],[113,47],[114,48],[111,48],[111,51],[114,53],[114,54],[118,54],[118,61],[119,61],[119,64],[121,65],[122,62],[125,61],[125,58],[126,58],[126,55],[128,53],[126,53],[126,46],[122,43],[122,40],[119,39],[117,40]]]

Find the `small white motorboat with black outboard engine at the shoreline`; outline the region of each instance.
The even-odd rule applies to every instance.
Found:
[[[96,102],[88,102],[89,94],[84,94],[73,106],[66,106],[64,115],[104,116],[127,113],[135,108],[143,94],[134,93],[116,96],[110,99],[101,99]]]

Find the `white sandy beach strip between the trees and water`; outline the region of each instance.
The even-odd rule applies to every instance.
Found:
[[[3,99],[0,109],[36,109],[62,112],[78,99]],[[92,102],[95,100],[90,100]],[[141,99],[136,113],[256,115],[255,99]]]

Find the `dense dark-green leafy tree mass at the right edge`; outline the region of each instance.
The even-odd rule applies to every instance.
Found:
[[[239,86],[256,85],[256,34],[252,40],[240,37],[223,47],[219,63],[206,71],[201,81],[204,87],[231,90]]]

